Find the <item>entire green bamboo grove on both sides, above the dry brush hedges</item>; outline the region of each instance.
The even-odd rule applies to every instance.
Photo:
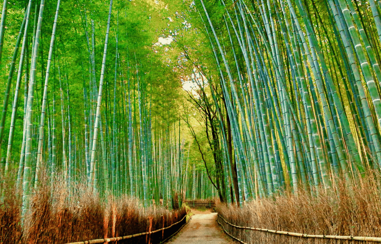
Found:
[[[176,208],[351,188],[380,170],[380,1],[180,2],[3,3],[2,161],[24,206],[42,172]],[[196,84],[191,112],[181,79]]]

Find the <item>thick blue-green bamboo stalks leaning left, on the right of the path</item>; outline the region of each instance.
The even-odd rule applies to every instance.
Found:
[[[285,189],[313,194],[380,170],[381,2],[197,0],[193,7],[211,61],[184,51],[194,58],[198,89],[210,95],[200,100],[211,103],[224,132],[221,196],[242,204]]]

